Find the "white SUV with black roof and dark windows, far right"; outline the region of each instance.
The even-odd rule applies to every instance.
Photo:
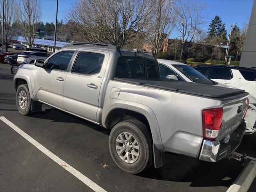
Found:
[[[243,89],[256,98],[255,69],[230,65],[199,65],[194,68],[216,82]]]

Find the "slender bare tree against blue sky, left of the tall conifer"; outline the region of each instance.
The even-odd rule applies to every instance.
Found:
[[[191,42],[198,29],[204,23],[202,17],[203,6],[196,0],[177,0],[175,11],[177,14],[176,29],[180,33],[182,44],[180,60],[182,60],[185,42]]]

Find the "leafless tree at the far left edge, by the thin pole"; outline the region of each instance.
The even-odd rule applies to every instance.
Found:
[[[7,0],[4,3],[4,42],[2,42],[2,46],[5,44],[5,51],[8,52],[8,43],[12,38],[15,32],[15,14],[14,14],[14,0]],[[3,23],[3,1],[0,2],[0,20],[1,24]],[[2,34],[0,35],[2,38]]]

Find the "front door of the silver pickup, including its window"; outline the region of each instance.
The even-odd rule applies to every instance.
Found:
[[[68,66],[74,51],[58,52],[46,61],[46,68],[36,73],[35,98],[51,106],[63,109],[63,88]]]

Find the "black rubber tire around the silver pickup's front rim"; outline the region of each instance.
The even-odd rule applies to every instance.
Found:
[[[26,108],[22,109],[20,107],[20,104],[19,104],[19,94],[20,92],[24,91],[26,93],[26,97],[27,97],[27,105],[26,105]],[[28,90],[28,84],[21,84],[17,91],[16,91],[16,105],[17,105],[17,108],[20,112],[20,114],[22,115],[30,115],[32,114],[32,110],[31,110],[31,99],[30,99],[30,94],[29,94],[29,90]]]

